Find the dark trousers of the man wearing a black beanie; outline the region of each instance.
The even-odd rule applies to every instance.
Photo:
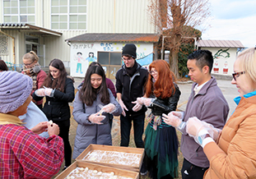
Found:
[[[136,117],[121,115],[121,146],[128,147],[130,140],[130,132],[133,121],[134,141],[137,148],[144,148],[142,134],[144,131],[145,113]]]

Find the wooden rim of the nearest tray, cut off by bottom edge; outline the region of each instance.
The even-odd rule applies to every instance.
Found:
[[[63,179],[67,177],[67,175],[72,172],[73,169],[75,168],[89,168],[90,170],[97,170],[98,172],[114,172],[114,175],[122,176],[122,177],[131,177],[134,179],[139,178],[138,172],[132,172],[128,170],[123,170],[119,168],[110,168],[107,166],[95,164],[95,163],[86,163],[86,162],[81,162],[81,161],[76,161],[72,163],[66,170],[61,172],[55,179]]]

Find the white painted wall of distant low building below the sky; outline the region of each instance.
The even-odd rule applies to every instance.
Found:
[[[201,48],[212,52],[214,58],[212,74],[231,75],[237,57],[237,48]]]

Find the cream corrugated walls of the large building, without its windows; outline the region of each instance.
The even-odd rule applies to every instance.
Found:
[[[0,23],[3,22],[2,2],[3,0],[0,0]],[[86,30],[55,30],[63,33],[62,36],[40,38],[40,44],[45,45],[46,66],[55,57],[70,62],[70,47],[65,39],[79,34],[156,33],[156,28],[151,24],[147,14],[149,2],[150,0],[87,0]],[[35,25],[51,29],[51,0],[35,0]],[[16,63],[21,63],[21,57],[26,49],[25,33],[17,30],[6,31],[15,36]],[[9,55],[2,57],[7,59],[7,62],[12,58],[12,41],[9,42],[8,49]]]

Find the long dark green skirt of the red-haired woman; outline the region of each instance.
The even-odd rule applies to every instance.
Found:
[[[171,177],[179,177],[178,174],[178,147],[179,141],[175,128],[165,124],[153,129],[153,122],[148,123],[145,131],[145,152],[152,163],[156,158],[157,178],[170,174]]]

